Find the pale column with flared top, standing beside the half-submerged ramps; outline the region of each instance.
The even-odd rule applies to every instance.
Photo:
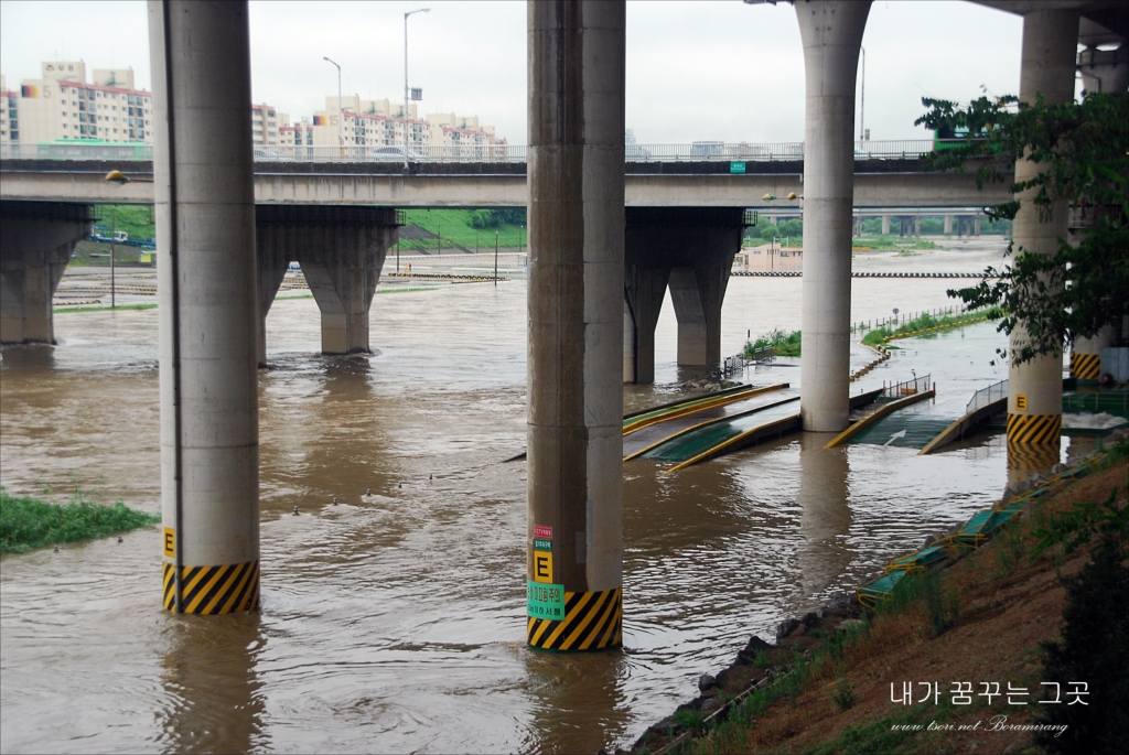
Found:
[[[805,430],[838,432],[850,414],[850,221],[855,199],[855,82],[870,3],[796,3],[804,42]]]

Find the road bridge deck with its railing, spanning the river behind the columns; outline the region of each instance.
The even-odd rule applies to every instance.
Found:
[[[971,174],[928,173],[933,141],[858,142],[855,208],[974,212],[1010,200],[1007,183],[978,190]],[[395,208],[519,207],[527,201],[525,147],[485,153],[448,151],[402,163],[364,148],[255,150],[260,204],[361,204]],[[802,208],[803,143],[629,144],[628,207],[739,207],[795,214]],[[152,202],[147,144],[6,144],[0,199],[82,203]],[[472,159],[475,158],[475,159]],[[134,178],[107,184],[107,172]],[[795,200],[787,199],[796,194]],[[769,196],[771,199],[765,199]],[[893,212],[891,212],[893,213]]]

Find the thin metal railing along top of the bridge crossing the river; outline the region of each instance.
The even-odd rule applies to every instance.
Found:
[[[937,146],[962,140],[857,141],[855,159],[918,159]],[[525,144],[441,144],[409,150],[409,163],[525,163]],[[313,147],[255,146],[256,163],[387,163],[402,164],[404,152],[395,146]],[[40,160],[152,160],[152,144],[7,143],[0,159]],[[627,144],[628,163],[768,163],[804,159],[804,142],[697,142],[691,144]]]

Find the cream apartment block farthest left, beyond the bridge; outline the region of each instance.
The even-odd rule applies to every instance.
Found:
[[[97,139],[146,142],[152,135],[152,95],[135,88],[131,69],[95,69],[82,61],[44,61],[38,79],[24,79],[14,141]],[[9,114],[9,118],[11,115]]]

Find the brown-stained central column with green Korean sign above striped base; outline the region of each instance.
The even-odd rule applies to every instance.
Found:
[[[622,642],[625,7],[528,3],[527,640]]]

